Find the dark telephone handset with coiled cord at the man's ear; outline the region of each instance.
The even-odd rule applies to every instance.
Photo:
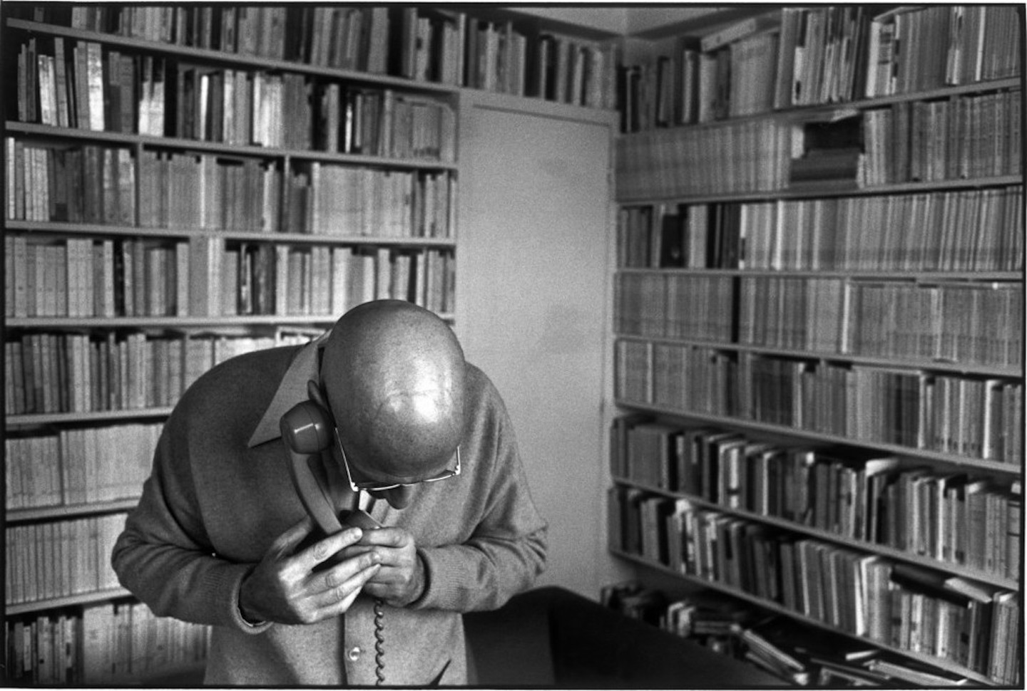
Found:
[[[362,530],[381,528],[381,524],[371,518],[370,514],[356,507],[358,495],[338,477],[334,466],[321,461],[321,451],[332,446],[335,422],[328,413],[328,406],[316,382],[307,382],[307,396],[309,400],[290,408],[278,422],[281,438],[289,448],[289,474],[303,507],[326,535],[334,535],[347,526]],[[336,477],[332,477],[333,475]],[[337,512],[333,490],[348,496],[352,509]],[[341,559],[340,555],[335,555],[329,563],[336,563]],[[375,676],[379,686],[385,681],[382,660],[385,655],[383,619],[384,604],[376,598]]]

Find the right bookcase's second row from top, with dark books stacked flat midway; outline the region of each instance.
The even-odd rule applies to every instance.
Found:
[[[1009,152],[1021,146],[1019,98],[998,92],[857,112],[841,118],[859,130],[853,143],[824,134],[814,141],[814,129],[770,119],[643,132],[617,143],[617,197],[820,193],[1017,174],[1019,155]]]

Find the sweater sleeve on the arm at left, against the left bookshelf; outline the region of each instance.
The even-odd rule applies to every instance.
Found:
[[[157,443],[153,472],[111,555],[121,584],[157,616],[261,633],[246,622],[239,586],[252,564],[219,559],[200,520],[188,445],[173,414]]]

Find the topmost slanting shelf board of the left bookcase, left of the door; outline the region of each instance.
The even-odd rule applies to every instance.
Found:
[[[456,93],[459,90],[458,87],[449,84],[421,82],[403,77],[371,74],[368,72],[358,72],[356,70],[341,70],[339,68],[319,67],[315,65],[306,65],[304,63],[276,59],[273,57],[243,55],[239,53],[213,50],[210,48],[193,48],[174,43],[164,43],[163,41],[148,41],[140,38],[117,36],[115,34],[105,34],[94,31],[85,31],[82,29],[72,29],[70,27],[60,27],[52,24],[43,24],[41,22],[8,18],[7,26],[11,29],[34,32],[37,34],[64,36],[65,38],[92,41],[94,43],[103,43],[105,45],[122,48],[131,48],[134,50],[149,53],[176,55],[179,57],[186,57],[218,65],[253,68],[255,70],[274,70],[294,72],[297,74],[316,75],[319,77],[331,77],[365,84],[377,84],[381,86],[401,88],[408,91],[420,91],[423,93],[436,93],[445,95]]]

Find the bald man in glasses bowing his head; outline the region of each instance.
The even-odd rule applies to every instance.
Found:
[[[383,527],[306,515],[279,429],[304,401],[334,428],[314,462],[340,516]],[[208,684],[460,685],[460,613],[529,587],[545,544],[495,388],[442,320],[380,300],[200,377],[112,563],[157,615],[215,625]]]

